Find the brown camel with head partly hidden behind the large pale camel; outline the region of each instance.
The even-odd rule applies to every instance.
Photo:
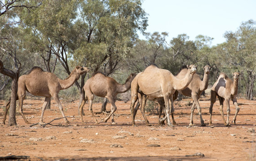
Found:
[[[91,114],[93,115],[93,119],[95,120],[95,123],[98,123],[97,119],[95,118],[93,114],[93,96],[96,95],[98,97],[106,97],[108,98],[109,102],[111,103],[111,113],[106,119],[104,119],[104,122],[106,123],[108,119],[110,119],[110,116],[112,116],[112,124],[115,124],[114,121],[114,112],[116,111],[115,106],[115,97],[118,93],[124,93],[128,91],[131,88],[131,82],[133,78],[136,76],[135,73],[132,73],[130,76],[128,76],[126,82],[124,85],[121,85],[116,82],[115,79],[105,76],[101,72],[96,72],[93,74],[93,76],[88,79],[84,85],[84,99],[81,103],[81,106],[79,107],[80,111],[80,117],[82,122],[84,123],[82,112],[85,102],[88,100],[89,102],[89,110]]]

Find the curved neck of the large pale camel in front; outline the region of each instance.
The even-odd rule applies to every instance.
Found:
[[[177,79],[175,76],[173,76],[173,79],[174,81],[172,83],[174,89],[183,90],[190,84],[191,80],[193,79],[193,75],[191,75],[190,71],[188,70],[183,79]]]

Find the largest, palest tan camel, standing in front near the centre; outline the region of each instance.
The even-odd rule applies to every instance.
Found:
[[[177,79],[172,73],[165,69],[160,69],[156,65],[148,66],[143,72],[139,73],[136,78],[132,81],[131,85],[131,115],[132,115],[132,125],[134,123],[134,104],[137,101],[138,93],[141,93],[141,111],[145,109],[146,99],[158,101],[160,106],[165,105],[166,115],[163,119],[159,119],[159,123],[162,123],[167,119],[168,126],[172,126],[170,121],[169,112],[170,105],[169,99],[171,101],[171,113],[174,112],[173,107],[173,94],[175,90],[185,89],[191,82],[194,73],[196,72],[196,66],[190,65],[186,76],[183,79]],[[162,101],[163,100],[163,101]],[[163,106],[164,107],[164,106]],[[149,124],[146,119],[146,115],[143,111],[142,113],[146,124]]]

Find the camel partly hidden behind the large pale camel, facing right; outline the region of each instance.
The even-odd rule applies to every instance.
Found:
[[[184,76],[187,73],[187,68],[184,68],[175,76],[178,79],[184,78]],[[193,79],[191,80],[189,86],[183,90],[178,90],[179,93],[183,94],[187,97],[192,97],[193,99],[193,105],[191,107],[191,116],[190,116],[190,125],[193,126],[193,113],[195,106],[197,106],[197,110],[199,112],[199,116],[201,119],[201,126],[205,126],[205,123],[203,122],[202,114],[201,114],[201,107],[199,105],[198,99],[201,96],[202,92],[207,89],[208,87],[208,80],[209,80],[209,72],[211,70],[211,67],[209,65],[206,65],[204,67],[204,75],[203,75],[203,81],[200,79],[198,74],[194,74]],[[175,98],[176,99],[176,98]],[[172,116],[173,118],[173,116]]]

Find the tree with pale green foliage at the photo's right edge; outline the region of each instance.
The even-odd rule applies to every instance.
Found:
[[[225,68],[233,68],[242,73],[246,86],[246,97],[253,99],[253,88],[256,79],[256,21],[243,22],[236,32],[226,32],[222,54]]]

